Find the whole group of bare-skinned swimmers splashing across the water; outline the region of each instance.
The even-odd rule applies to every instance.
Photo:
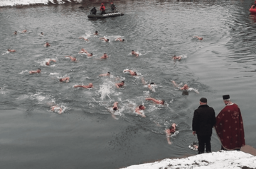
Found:
[[[21,33],[26,33],[26,32],[27,32],[27,30],[22,30],[21,31]],[[17,31],[14,32],[14,35],[17,35]],[[41,33],[41,35],[43,35],[43,33]],[[99,35],[98,31],[95,31],[94,35]],[[194,36],[194,37],[198,38],[198,40],[203,40],[203,37],[198,37],[198,36]],[[80,39],[84,39],[85,41],[89,41],[85,37],[79,37],[79,38]],[[105,37],[100,37],[100,40],[104,40],[105,42],[110,42],[110,40],[105,38]],[[124,42],[124,39],[122,39],[120,37],[118,37],[115,40],[116,41],[120,41],[120,42]],[[49,42],[46,42],[46,44],[44,44],[44,47],[50,47]],[[8,51],[9,52],[16,52],[15,49],[8,49]],[[87,50],[85,50],[84,48],[82,48],[79,53],[80,54],[81,53],[85,53],[85,54],[87,54],[87,57],[92,57],[93,56],[92,53],[87,52]],[[135,57],[139,57],[139,53],[135,52],[134,50],[132,50],[131,54],[134,55]],[[75,57],[65,56],[65,58],[70,58],[70,61],[76,62],[76,58]],[[106,53],[104,53],[102,55],[102,57],[100,57],[100,59],[107,59],[107,58],[108,58],[108,56],[107,56]],[[174,55],[172,57],[172,59],[180,60],[181,56]],[[46,66],[50,66],[50,62],[56,62],[56,60],[55,59],[48,59],[48,61],[46,62]],[[131,76],[137,76],[137,72],[136,71],[124,70],[124,72],[128,72]],[[38,68],[36,71],[29,71],[29,74],[40,74],[40,73],[41,73],[41,69],[40,68]],[[110,72],[107,72],[107,74],[100,74],[99,76],[110,76]],[[69,80],[70,80],[70,77],[63,77],[63,78],[59,79],[60,82],[66,82],[66,83],[68,83]],[[185,85],[180,87],[180,86],[178,86],[178,84],[176,84],[175,81],[171,81],[171,82],[174,84],[174,87],[177,87],[181,91],[189,91],[191,89],[191,88],[188,87],[187,84],[185,84]],[[153,82],[151,82],[149,84],[146,84],[146,82],[144,81],[144,78],[142,77],[142,83],[144,85],[146,85],[147,88],[149,88],[151,91],[153,91],[153,88],[154,88],[153,87],[154,86]],[[122,86],[124,86],[124,81],[121,81],[119,83],[115,83],[114,86],[116,86],[117,88],[122,88]],[[88,85],[75,85],[73,87],[74,88],[93,88],[93,84],[89,83]],[[198,93],[198,91],[196,91],[196,90],[193,90],[193,91]],[[153,103],[156,103],[158,105],[164,105],[164,103],[165,103],[164,100],[157,100],[155,98],[146,98],[146,100],[152,101]],[[140,115],[142,117],[146,117],[144,115],[144,112],[142,111],[142,110],[145,110],[145,109],[146,109],[146,107],[144,105],[139,105],[139,106],[137,106],[135,108],[134,111],[137,113],[137,115]],[[56,104],[51,104],[50,110],[53,111],[53,112],[55,112],[57,110],[58,114],[61,114],[63,112],[62,107],[60,107],[60,106],[58,106]],[[114,110],[114,111],[118,110],[118,102],[114,102],[112,110]],[[176,124],[175,123],[173,123],[169,129],[166,129],[166,138],[167,138],[168,144],[171,144],[170,136],[171,136],[171,134],[174,134],[175,132],[176,132]]]

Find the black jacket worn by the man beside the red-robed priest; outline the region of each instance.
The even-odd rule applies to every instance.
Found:
[[[192,130],[196,131],[198,136],[211,136],[215,122],[216,118],[213,107],[200,105],[193,115]]]

